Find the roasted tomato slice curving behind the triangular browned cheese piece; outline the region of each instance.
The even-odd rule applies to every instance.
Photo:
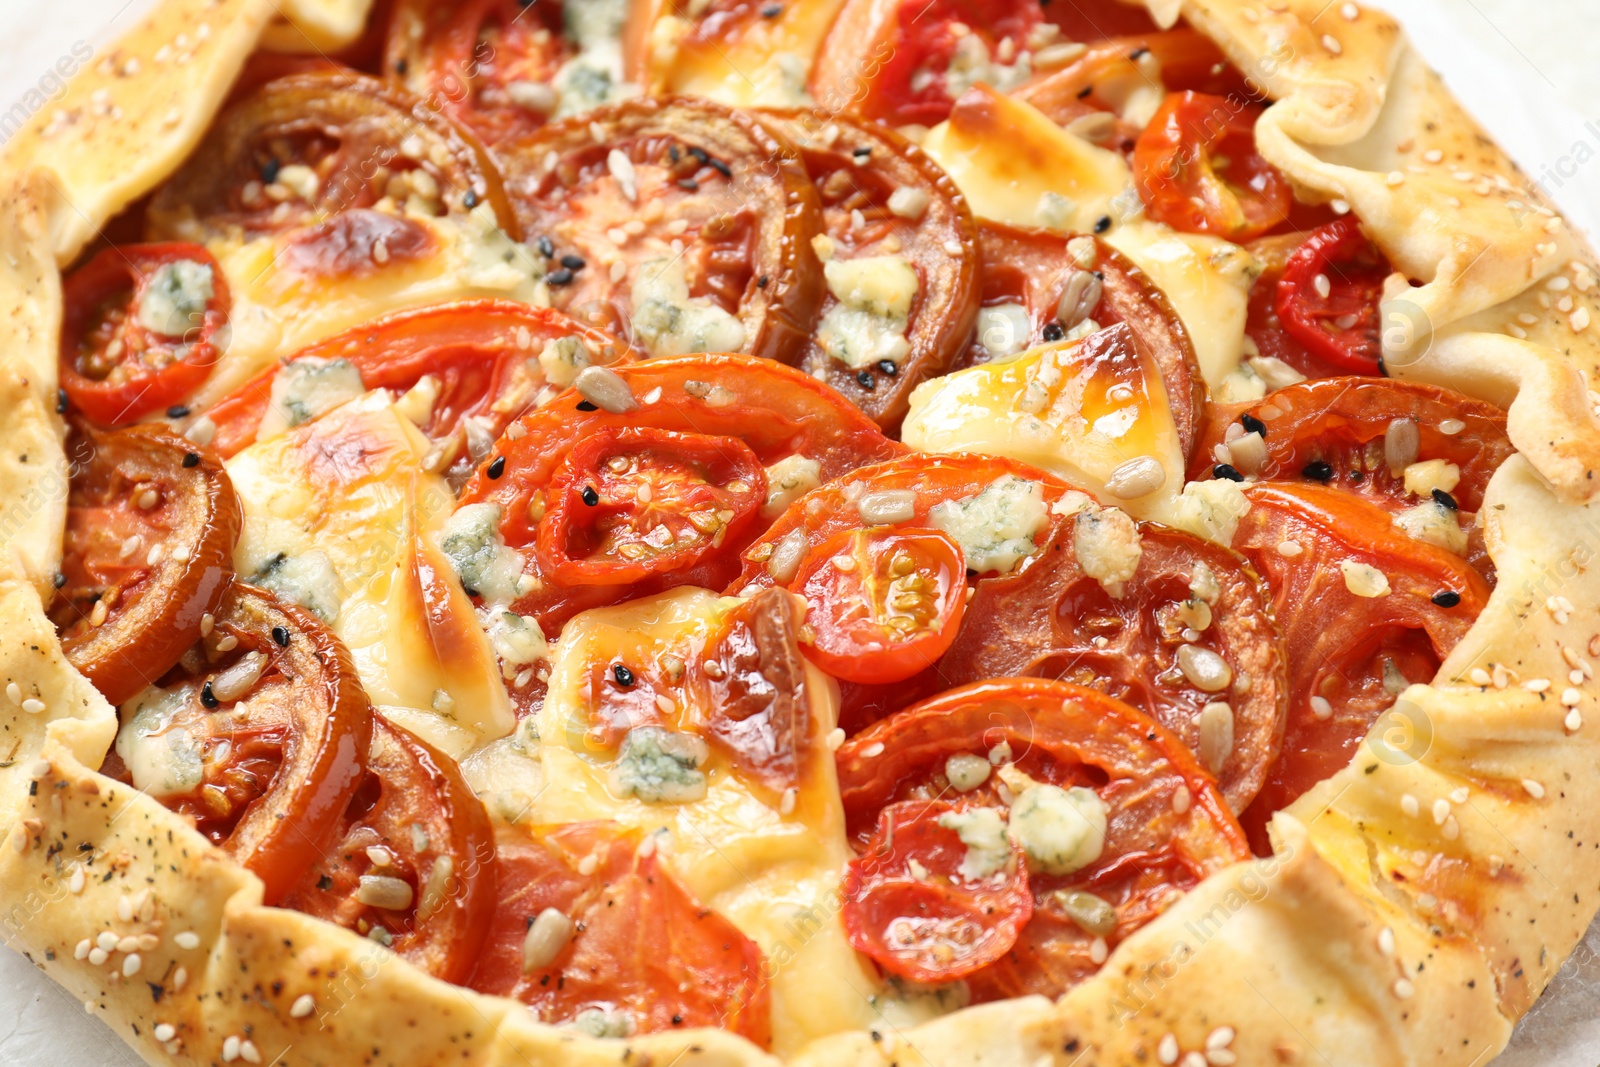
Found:
[[[1093,237],[1064,237],[982,222],[978,254],[982,290],[978,333],[963,366],[987,363],[1069,330],[1128,323],[1134,346],[1162,371],[1184,456],[1194,454],[1206,392],[1195,347],[1166,294],[1120,251]]]

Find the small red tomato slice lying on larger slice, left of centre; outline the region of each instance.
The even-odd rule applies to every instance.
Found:
[[[539,568],[562,585],[619,585],[686,569],[741,539],[766,472],[736,437],[648,427],[578,442],[550,477],[536,536]]]

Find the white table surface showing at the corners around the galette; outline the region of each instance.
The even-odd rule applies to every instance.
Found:
[[[78,42],[102,48],[152,0],[0,0],[0,102],[10,106]],[[1568,218],[1600,237],[1600,3],[1376,0],[1406,26],[1462,104]],[[0,221],[3,226],[3,221]],[[0,949],[0,1064],[130,1064],[139,1057],[21,955]],[[1518,1025],[1494,1067],[1600,1062],[1600,923]]]

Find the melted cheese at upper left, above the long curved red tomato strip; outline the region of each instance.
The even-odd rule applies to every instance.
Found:
[[[512,242],[488,205],[466,219],[408,214],[435,251],[390,261],[350,277],[307,277],[283,266],[282,238],[218,238],[208,243],[227,278],[234,310],[229,342],[190,406],[203,410],[254,378],[272,360],[371,322],[379,315],[470,298],[549,304],[541,259]]]

